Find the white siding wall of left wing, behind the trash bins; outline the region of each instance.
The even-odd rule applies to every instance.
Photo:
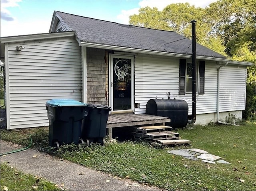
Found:
[[[81,50],[74,37],[8,43],[8,50],[8,129],[48,126],[48,100],[81,101]]]

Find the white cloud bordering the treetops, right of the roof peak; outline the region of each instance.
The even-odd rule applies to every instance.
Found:
[[[138,3],[138,8],[131,10],[122,10],[121,14],[117,16],[118,20],[122,24],[129,23],[129,16],[133,14],[138,14],[139,9],[142,7],[149,6],[150,8],[156,7],[158,10],[163,10],[167,5],[172,3],[186,3],[188,2],[191,6],[205,8],[210,3],[215,2],[216,0],[142,0]]]

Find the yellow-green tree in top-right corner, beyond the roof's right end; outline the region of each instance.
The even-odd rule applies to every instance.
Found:
[[[232,60],[256,63],[256,0],[222,0],[210,4],[210,8],[225,6],[229,16],[220,22],[217,34],[222,36],[226,54]],[[256,65],[248,67],[247,83],[254,86],[256,93]]]

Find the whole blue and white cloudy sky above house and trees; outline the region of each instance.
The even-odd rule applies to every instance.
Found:
[[[185,3],[205,8],[217,0],[0,0],[0,37],[48,33],[54,10],[129,24],[129,16],[142,7],[162,10],[168,4]]]

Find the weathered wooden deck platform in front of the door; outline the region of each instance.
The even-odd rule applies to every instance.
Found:
[[[112,128],[128,127],[128,126],[141,126],[141,125],[154,125],[170,122],[170,118],[161,117],[148,114],[111,114],[108,116],[107,128],[108,136],[112,139]]]

